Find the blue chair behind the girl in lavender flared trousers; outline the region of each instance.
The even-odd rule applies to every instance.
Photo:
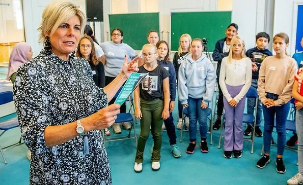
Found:
[[[246,93],[246,98],[256,98],[254,114],[244,114],[243,115],[243,120],[242,120],[243,123],[253,125],[254,130],[253,130],[252,136],[249,137],[249,138],[244,137],[244,140],[248,140],[248,141],[252,142],[251,154],[254,154],[256,117],[257,117],[257,109],[258,109],[258,101],[257,101],[258,100],[258,92],[257,92],[257,89],[255,87],[251,86],[249,91],[247,91],[247,93]],[[225,120],[225,115],[224,115],[223,118]],[[223,125],[224,124],[225,124],[225,121],[224,121]],[[224,138],[223,127],[221,127],[221,134],[220,134],[220,138],[219,138],[218,149],[221,148],[221,140],[222,140],[222,138]]]

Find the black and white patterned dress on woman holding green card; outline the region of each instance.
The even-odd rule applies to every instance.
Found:
[[[42,50],[17,71],[14,100],[22,138],[32,152],[30,184],[112,184],[101,131],[86,133],[87,155],[84,136],[51,147],[44,140],[45,127],[74,122],[106,106],[106,93],[95,85],[85,59],[72,55],[63,61]]]

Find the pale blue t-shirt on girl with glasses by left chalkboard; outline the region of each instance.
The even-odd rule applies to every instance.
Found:
[[[112,41],[108,41],[100,44],[104,56],[105,65],[104,71],[106,77],[117,77],[122,70],[125,55],[128,57],[128,61],[137,56],[137,53],[125,43],[115,44]]]

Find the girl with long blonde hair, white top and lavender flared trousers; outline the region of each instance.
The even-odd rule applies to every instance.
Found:
[[[230,52],[221,63],[219,85],[224,98],[225,134],[224,157],[242,157],[242,119],[245,95],[252,84],[252,61],[245,56],[245,44],[240,36],[231,40]]]

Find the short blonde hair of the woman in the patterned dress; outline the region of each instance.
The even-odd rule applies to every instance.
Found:
[[[81,35],[84,32],[86,16],[80,11],[79,6],[72,2],[53,1],[43,11],[42,21],[38,28],[39,43],[45,42],[46,34],[53,34],[58,27],[73,16],[77,16],[80,20]]]

